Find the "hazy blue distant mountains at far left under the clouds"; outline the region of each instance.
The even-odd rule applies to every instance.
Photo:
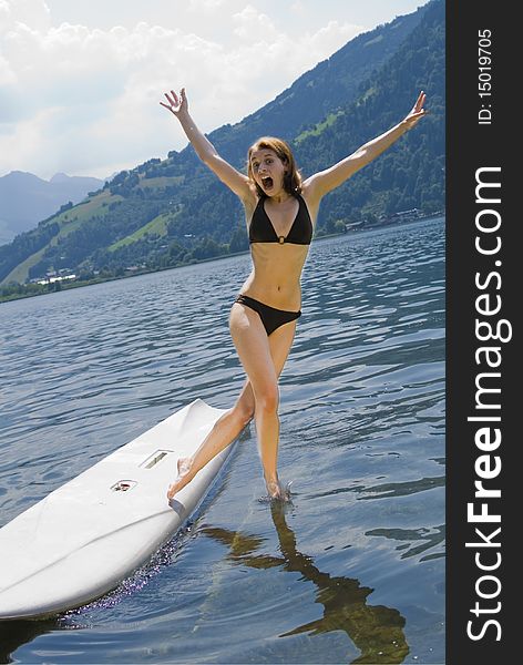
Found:
[[[103,187],[98,177],[57,173],[44,181],[32,173],[11,171],[0,177],[0,245],[55,213],[61,205],[80,203],[89,192]]]

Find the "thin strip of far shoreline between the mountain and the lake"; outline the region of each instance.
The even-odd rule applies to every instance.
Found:
[[[416,222],[428,222],[430,219],[438,219],[438,218],[444,218],[445,217],[445,213],[444,211],[442,213],[437,213],[437,214],[431,214],[431,215],[427,215],[424,217],[418,217],[416,219],[403,219],[403,221],[399,221],[392,224],[375,224],[372,226],[369,226],[367,228],[361,228],[361,229],[352,229],[352,231],[346,231],[342,233],[330,233],[330,234],[326,234],[326,235],[320,235],[319,237],[315,237],[314,241],[315,243],[318,243],[320,241],[327,241],[327,239],[331,239],[331,238],[336,238],[336,237],[340,237],[340,236],[347,236],[347,235],[352,235],[352,234],[357,234],[360,235],[362,233],[368,233],[368,232],[373,232],[373,231],[380,231],[383,228],[392,228],[392,227],[399,227],[399,226],[403,226],[403,225],[408,225],[408,224],[413,224]],[[71,282],[71,283],[62,283],[62,282],[58,282],[57,284],[60,284],[59,288],[52,288],[52,289],[45,289],[45,290],[41,290],[39,293],[28,293],[28,294],[12,294],[11,296],[0,296],[0,305],[2,305],[3,303],[12,303],[13,300],[24,300],[25,298],[35,298],[39,296],[49,296],[51,294],[57,294],[60,291],[65,291],[65,290],[72,290],[75,288],[83,288],[84,286],[94,286],[96,284],[105,284],[107,282],[117,282],[120,279],[130,279],[132,277],[141,277],[143,275],[152,275],[154,273],[163,273],[165,270],[175,270],[177,268],[185,268],[188,266],[195,266],[195,265],[199,265],[199,264],[204,264],[204,263],[209,263],[213,260],[222,260],[225,258],[233,258],[235,256],[243,256],[249,254],[249,249],[245,249],[244,252],[233,252],[232,254],[221,254],[218,256],[212,256],[209,258],[202,258],[201,260],[194,260],[194,262],[188,262],[185,264],[181,264],[178,266],[166,266],[164,268],[156,268],[154,270],[136,270],[135,273],[133,273],[132,275],[120,275],[120,276],[114,276],[114,277],[102,277],[102,278],[95,278],[95,279],[89,279],[89,280],[75,280],[75,282]],[[20,285],[21,287],[25,286],[25,285]],[[50,286],[50,285],[49,285]],[[1,288],[1,287],[0,287]]]

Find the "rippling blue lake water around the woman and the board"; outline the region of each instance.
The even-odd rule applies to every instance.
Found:
[[[242,255],[0,305],[0,525],[243,372]],[[281,377],[280,478],[254,429],[184,532],[104,598],[0,623],[0,662],[444,662],[444,221],[312,245]],[[164,492],[165,488],[158,488]]]

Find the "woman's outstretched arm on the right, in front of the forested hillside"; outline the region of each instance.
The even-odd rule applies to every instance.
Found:
[[[308,177],[304,183],[304,190],[308,191],[309,198],[319,204],[322,196],[339,187],[346,180],[369,164],[369,162],[372,162],[372,160],[396,143],[400,136],[411,130],[427,114],[427,111],[423,109],[425,98],[425,93],[420,92],[412,110],[400,123],[388,132],[384,132],[384,134],[365,143],[351,155],[330,166],[330,168],[326,168]]]

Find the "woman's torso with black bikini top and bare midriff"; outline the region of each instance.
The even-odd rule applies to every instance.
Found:
[[[297,311],[315,218],[307,200],[301,195],[284,205],[257,198],[246,205],[246,217],[253,270],[240,293],[270,307]]]

